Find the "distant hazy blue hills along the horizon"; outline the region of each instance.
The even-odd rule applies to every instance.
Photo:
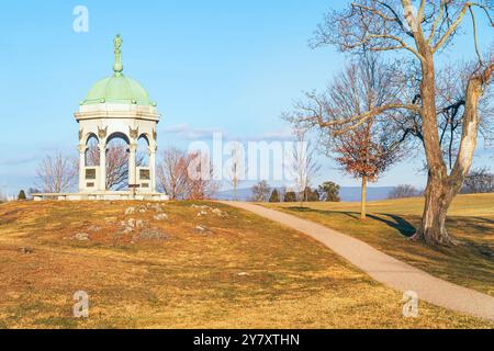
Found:
[[[394,189],[394,186],[370,186],[367,189],[368,201],[386,200],[388,194]],[[252,191],[250,189],[239,189],[237,191],[237,197],[239,201],[247,201],[251,196]],[[343,186],[339,195],[344,202],[359,202],[360,201],[360,188],[359,186]],[[233,200],[233,190],[221,191],[216,194],[218,200]]]

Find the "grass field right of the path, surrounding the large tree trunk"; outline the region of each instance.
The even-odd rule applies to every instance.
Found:
[[[494,194],[460,195],[448,218],[457,248],[431,248],[408,240],[420,223],[423,199],[370,202],[369,218],[358,203],[270,204],[359,238],[377,249],[445,280],[494,296]]]

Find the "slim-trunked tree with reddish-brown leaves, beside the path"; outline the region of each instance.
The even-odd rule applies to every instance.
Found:
[[[368,183],[377,181],[402,158],[404,145],[401,134],[390,133],[392,120],[384,113],[366,118],[352,128],[347,128],[345,121],[393,99],[395,90],[391,78],[378,57],[366,53],[335,77],[324,95],[307,94],[311,103],[299,103],[297,113],[288,116],[292,123],[300,124],[300,115],[317,111],[318,105],[330,111],[326,117],[334,126],[324,127],[322,133],[325,152],[335,158],[343,171],[361,180],[362,219],[367,217]],[[319,127],[312,122],[308,125]]]

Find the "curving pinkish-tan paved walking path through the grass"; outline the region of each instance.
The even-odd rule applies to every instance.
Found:
[[[363,241],[305,220],[252,203],[222,202],[246,210],[287,227],[302,231],[324,244],[380,283],[397,291],[414,291],[430,304],[494,320],[494,297],[449,283],[388,256]]]

